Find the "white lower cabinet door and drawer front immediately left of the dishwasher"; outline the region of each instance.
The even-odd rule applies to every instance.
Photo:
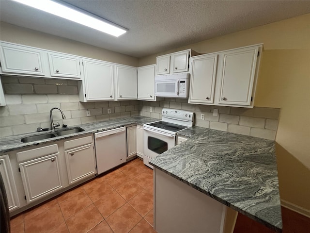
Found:
[[[69,184],[96,174],[93,136],[65,141],[64,154]]]

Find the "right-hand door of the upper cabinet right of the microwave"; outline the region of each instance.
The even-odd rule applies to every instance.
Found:
[[[250,105],[257,56],[258,47],[223,54],[218,103]]]

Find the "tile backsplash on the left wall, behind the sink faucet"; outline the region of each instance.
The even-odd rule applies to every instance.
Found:
[[[49,111],[61,108],[66,116],[53,111],[60,125],[80,125],[139,115],[138,100],[79,102],[78,81],[1,76],[6,106],[0,107],[0,137],[50,128]],[[108,108],[111,114],[108,114]],[[86,116],[90,110],[91,116]]]

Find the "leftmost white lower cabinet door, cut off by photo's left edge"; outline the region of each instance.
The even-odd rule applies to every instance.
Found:
[[[0,156],[0,172],[8,199],[9,210],[15,210],[19,207],[19,201],[9,155],[7,154]]]

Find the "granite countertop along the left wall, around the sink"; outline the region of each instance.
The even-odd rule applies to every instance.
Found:
[[[21,142],[21,138],[37,135],[37,134],[44,134],[48,133],[50,131],[45,132],[33,132],[33,133],[25,133],[25,134],[19,134],[19,135],[13,135],[8,137],[0,138],[0,153],[5,153],[12,150],[18,150],[23,148],[29,148],[41,144],[46,144],[49,142],[59,141],[75,136],[81,136],[91,133],[97,133],[101,131],[106,131],[110,129],[120,128],[123,126],[129,126],[129,125],[143,125],[145,123],[150,123],[154,121],[158,121],[159,119],[146,117],[146,116],[130,116],[130,117],[123,117],[118,119],[112,119],[112,120],[106,120],[106,121],[100,121],[100,122],[94,122],[94,123],[88,123],[88,124],[82,124],[74,127],[81,127],[85,131],[79,132],[79,133],[71,133],[63,136],[53,137],[49,139],[34,141],[34,142],[27,142],[23,143]],[[68,128],[70,128],[69,126]]]

